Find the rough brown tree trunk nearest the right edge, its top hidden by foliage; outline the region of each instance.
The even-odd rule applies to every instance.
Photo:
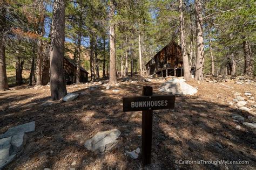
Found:
[[[249,41],[243,41],[244,45],[244,54],[245,54],[245,69],[244,74],[248,76],[253,76],[254,72],[254,63],[253,63],[253,56],[252,50]]]

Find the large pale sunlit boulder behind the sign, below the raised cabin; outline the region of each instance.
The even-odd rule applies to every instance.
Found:
[[[163,83],[158,90],[176,95],[193,95],[197,93],[197,89],[185,83],[184,79],[171,79]]]

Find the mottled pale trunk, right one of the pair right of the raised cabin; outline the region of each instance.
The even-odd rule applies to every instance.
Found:
[[[203,16],[201,0],[195,1],[196,20],[197,20],[197,61],[195,80],[204,80],[204,37],[203,37]]]

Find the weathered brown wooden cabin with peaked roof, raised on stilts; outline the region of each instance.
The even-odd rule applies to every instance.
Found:
[[[145,70],[147,75],[154,73],[166,77],[183,76],[183,59],[181,54],[181,47],[174,41],[171,41],[163,49],[161,49],[153,58],[146,63]],[[195,68],[191,68],[194,74]]]

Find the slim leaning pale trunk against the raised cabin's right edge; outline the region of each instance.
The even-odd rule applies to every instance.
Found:
[[[184,70],[184,79],[190,81],[190,65],[188,62],[188,56],[186,51],[186,34],[184,28],[184,16],[183,16],[183,1],[179,0],[179,19],[180,19],[180,41],[181,41],[181,53],[183,59],[183,70]],[[167,75],[166,75],[167,76]]]

